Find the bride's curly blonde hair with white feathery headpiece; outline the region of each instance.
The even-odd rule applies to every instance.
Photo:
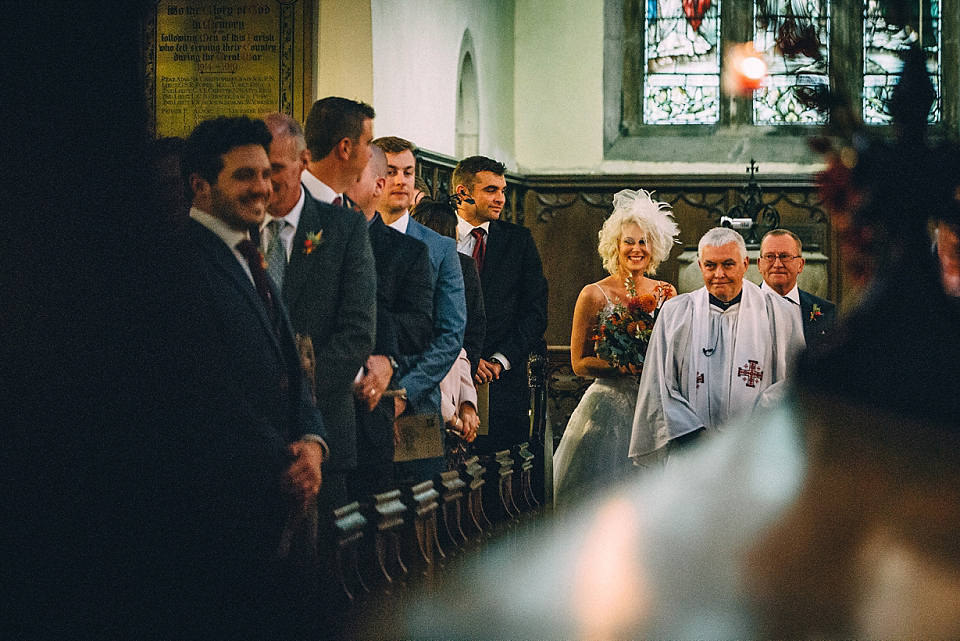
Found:
[[[634,223],[643,232],[650,264],[647,274],[657,271],[660,263],[670,256],[670,248],[679,243],[680,229],[670,213],[670,205],[653,200],[652,194],[643,189],[624,189],[613,197],[613,213],[600,229],[600,244],[597,252],[603,260],[603,268],[616,276],[620,266],[620,237],[625,225]]]

